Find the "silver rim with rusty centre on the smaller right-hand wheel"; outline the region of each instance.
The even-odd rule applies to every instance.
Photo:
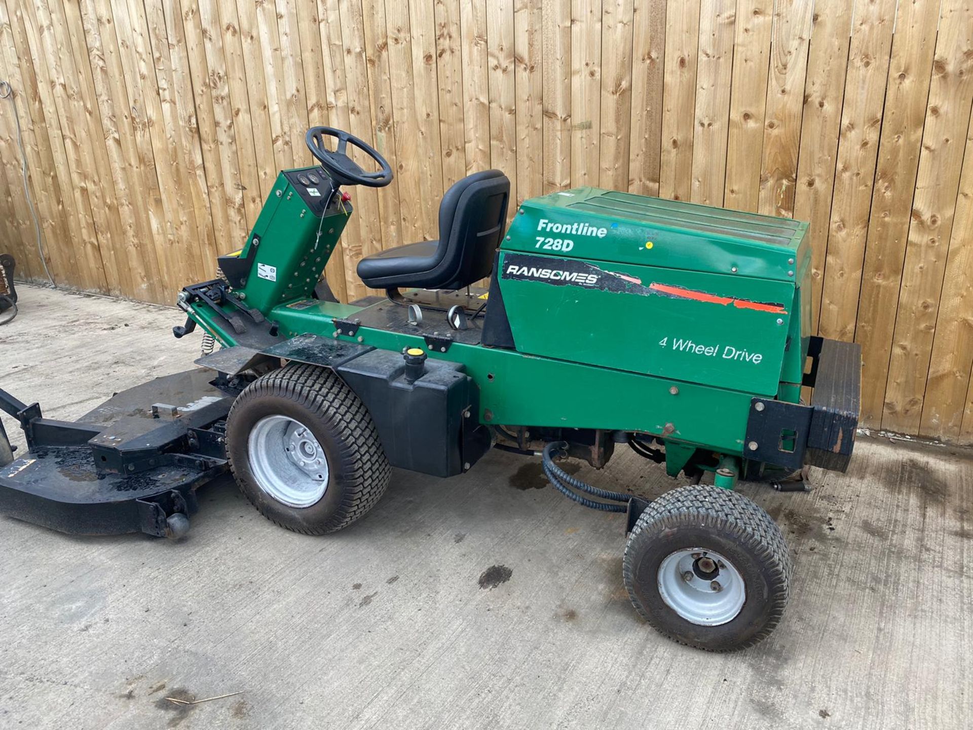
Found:
[[[680,617],[697,626],[733,621],[746,601],[739,570],[719,553],[684,548],[659,566],[659,593]]]

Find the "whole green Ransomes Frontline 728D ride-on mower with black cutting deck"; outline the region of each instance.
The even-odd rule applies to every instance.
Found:
[[[734,487],[844,471],[858,418],[859,347],[809,334],[807,224],[579,188],[523,201],[507,227],[509,181],[487,170],[443,197],[439,240],[359,263],[384,295],[341,304],[319,278],[352,215],[342,188],[387,185],[392,169],[338,129],[306,141],[318,164],[281,172],[242,249],[179,294],[175,336],[200,327],[213,350],[200,368],[77,422],[0,391],[28,448],[0,466],[0,509],[179,536],[198,487],[230,469],[271,521],[321,534],[368,512],[392,467],[456,476],[499,448],[627,514],[621,577],[663,634],[711,650],[768,636],[791,560]],[[647,501],[558,463],[599,468],[621,445],[684,486]]]

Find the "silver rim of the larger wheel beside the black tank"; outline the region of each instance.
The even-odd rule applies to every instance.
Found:
[[[328,457],[299,420],[258,420],[247,438],[247,456],[260,489],[288,507],[317,504],[328,490]]]

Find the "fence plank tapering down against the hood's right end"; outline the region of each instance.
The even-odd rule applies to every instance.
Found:
[[[835,186],[838,134],[845,102],[852,10],[853,3],[847,0],[816,0],[808,51],[794,217],[808,221],[812,332],[817,331],[817,314],[824,285],[824,256],[831,220],[831,194]]]

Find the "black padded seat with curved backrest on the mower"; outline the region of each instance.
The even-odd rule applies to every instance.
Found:
[[[499,170],[467,175],[439,204],[439,240],[389,248],[358,262],[375,289],[461,289],[489,275],[507,221],[510,180]]]

